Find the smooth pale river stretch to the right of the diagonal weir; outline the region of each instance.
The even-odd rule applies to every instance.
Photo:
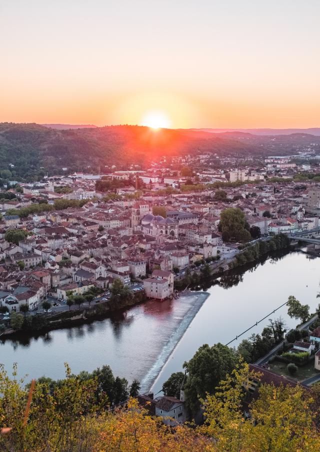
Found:
[[[182,340],[162,369],[153,389],[158,391],[172,372],[181,370],[184,361],[193,356],[202,344],[228,343],[256,321],[284,303],[289,295],[294,295],[303,304],[308,304],[311,312],[319,303],[320,259],[308,259],[303,253],[291,253],[281,258],[267,259],[243,274],[234,273],[221,277],[207,289],[209,298],[203,304]],[[227,290],[226,290],[227,289]],[[287,328],[296,325],[287,316],[287,308],[280,308],[271,318],[282,316]],[[261,333],[268,319],[259,323],[238,341],[252,333]]]

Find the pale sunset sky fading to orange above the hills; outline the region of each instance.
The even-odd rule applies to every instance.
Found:
[[[319,127],[319,0],[0,0],[0,121]]]

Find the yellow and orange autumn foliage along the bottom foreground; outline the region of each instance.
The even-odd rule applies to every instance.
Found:
[[[317,428],[320,385],[310,392],[301,387],[262,385],[243,417],[246,365],[225,376],[202,400],[205,424],[174,429],[151,417],[130,399],[109,410],[104,391],[114,387],[109,368],[104,372],[72,375],[54,382],[35,383],[29,411],[30,385],[9,378],[0,368],[0,450],[9,452],[315,452],[320,448]],[[131,385],[132,386],[132,385]],[[112,397],[112,391],[109,391]],[[126,397],[128,392],[126,393]]]

